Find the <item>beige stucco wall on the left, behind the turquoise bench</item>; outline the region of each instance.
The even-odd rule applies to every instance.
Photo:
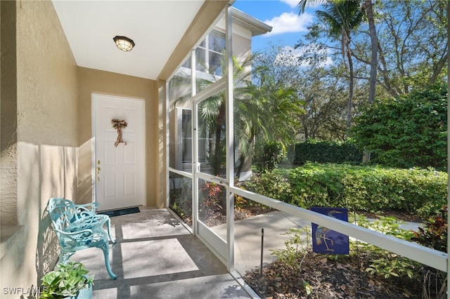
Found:
[[[75,59],[51,1],[13,3],[17,30],[15,201],[17,223],[23,227],[6,245],[2,243],[6,250],[0,260],[1,298],[19,298],[4,288],[35,288],[42,274],[56,263],[56,240],[46,204],[50,197],[77,194]]]

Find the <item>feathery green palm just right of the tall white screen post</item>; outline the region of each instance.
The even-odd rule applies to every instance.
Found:
[[[258,69],[257,83],[235,89],[235,124],[241,151],[239,175],[243,157],[251,157],[256,142],[276,141],[283,148],[295,140],[297,117],[304,114],[303,102],[293,88],[276,81],[266,69]],[[255,73],[254,73],[255,74]]]

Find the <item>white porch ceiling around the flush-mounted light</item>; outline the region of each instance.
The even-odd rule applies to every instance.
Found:
[[[53,0],[78,66],[146,79],[158,78],[203,3]],[[116,35],[136,46],[120,51]]]

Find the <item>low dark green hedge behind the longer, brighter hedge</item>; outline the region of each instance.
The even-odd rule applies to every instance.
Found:
[[[314,163],[350,163],[360,164],[363,152],[353,142],[306,140],[295,144],[294,164]]]

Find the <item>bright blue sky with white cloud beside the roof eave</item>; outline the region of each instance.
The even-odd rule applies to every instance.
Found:
[[[298,15],[300,0],[236,0],[235,8],[273,27],[269,34],[255,36],[252,51],[266,48],[268,43],[293,47],[314,20],[314,7]]]

